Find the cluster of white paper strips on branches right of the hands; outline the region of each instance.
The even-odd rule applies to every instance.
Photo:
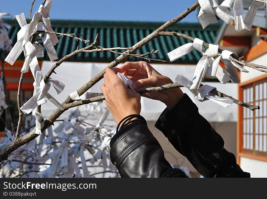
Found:
[[[208,50],[205,51],[203,42],[204,41],[201,39],[195,38],[193,43],[184,44],[183,46],[180,46],[168,53],[171,61],[183,57],[184,55],[190,53],[193,49],[198,50],[203,54],[203,57],[199,60],[196,66],[192,81],[182,75],[178,75],[175,81],[176,83],[188,88],[198,101],[205,101],[209,99],[219,105],[228,107],[233,103],[233,101],[229,98],[219,98],[212,94],[210,91],[215,87],[211,87],[209,85],[203,85],[200,87],[202,78],[208,74],[209,76],[217,77],[222,84],[226,84],[228,81],[239,83],[240,79],[236,68],[242,72],[248,71],[230,58],[232,54],[237,56],[236,53],[228,50],[223,50],[222,53],[218,53],[219,46],[214,44],[209,44]],[[225,69],[220,66],[220,61],[224,63]]]

